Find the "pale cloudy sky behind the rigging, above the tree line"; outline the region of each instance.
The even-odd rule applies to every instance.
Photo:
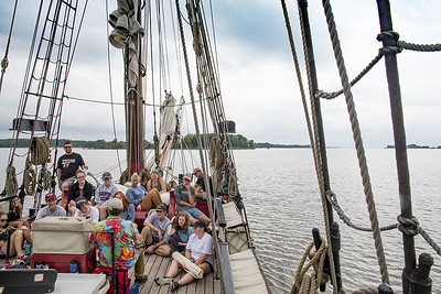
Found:
[[[0,2],[0,56],[3,56],[14,1]],[[37,11],[37,1],[19,1],[9,62],[0,95],[0,138],[10,138],[11,121],[17,115],[23,73]],[[101,101],[110,100],[107,67],[106,1],[89,1],[83,32],[71,69],[66,95]],[[109,1],[114,10],[116,1]],[[166,1],[169,2],[169,1]],[[172,1],[174,2],[174,1]],[[294,42],[300,57],[303,83],[306,85],[301,53],[297,1],[288,1]],[[381,46],[376,1],[331,1],[338,36],[352,79],[374,58]],[[183,4],[182,4],[183,8]],[[309,144],[303,108],[294,66],[289,48],[280,1],[223,0],[213,1],[216,50],[220,73],[220,89],[225,111],[236,122],[236,130],[256,142]],[[440,43],[441,4],[439,0],[391,1],[394,29],[400,40],[412,43]],[[185,14],[185,11],[183,11]],[[310,1],[310,21],[319,87],[326,91],[341,88],[321,1]],[[173,29],[168,50],[174,54]],[[191,48],[189,48],[191,50]],[[110,47],[114,100],[122,101],[121,52]],[[174,63],[170,57],[170,65]],[[441,53],[404,51],[398,55],[407,142],[441,145],[440,88]],[[172,69],[170,73],[173,73]],[[148,78],[150,76],[148,75]],[[193,76],[195,80],[195,76]],[[150,87],[150,86],[149,86]],[[148,88],[149,88],[148,87]],[[176,98],[190,97],[186,80],[170,78],[168,90]],[[160,90],[157,87],[155,90]],[[354,88],[364,143],[368,148],[394,144],[389,97],[381,59]],[[161,100],[155,95],[155,102]],[[152,102],[147,95],[147,101]],[[191,109],[189,108],[187,113]],[[330,146],[354,145],[344,97],[322,100],[326,143]],[[151,140],[153,110],[146,108],[147,139]],[[115,106],[117,137],[125,140],[123,107]],[[158,116],[158,113],[157,113]],[[190,122],[191,118],[184,119]],[[187,127],[184,127],[186,131]],[[192,129],[190,128],[190,131]],[[109,105],[66,100],[61,138],[112,140]]]

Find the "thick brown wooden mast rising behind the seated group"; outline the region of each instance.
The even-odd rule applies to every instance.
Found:
[[[141,20],[140,2],[138,1],[138,21]],[[141,35],[137,34],[135,40],[138,50],[137,58],[141,58]],[[126,89],[126,150],[127,165],[130,174],[138,173],[144,168],[144,123],[143,123],[143,99],[142,94],[142,75],[138,73],[138,84],[135,88],[129,86],[129,48],[126,46],[125,52],[125,89]]]

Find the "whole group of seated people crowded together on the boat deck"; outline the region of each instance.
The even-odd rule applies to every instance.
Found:
[[[196,171],[197,170],[197,171]],[[194,174],[201,172],[195,168]],[[182,255],[200,266],[204,273],[213,270],[212,237],[206,233],[209,218],[205,216],[196,206],[196,189],[191,186],[192,176],[185,175],[183,183],[174,189],[178,215],[171,219],[166,216],[166,205],[162,203],[161,194],[166,192],[165,183],[160,177],[158,171],[151,172],[151,179],[147,188],[139,185],[138,174],[131,176],[131,186],[126,194],[118,190],[111,183],[110,173],[103,174],[103,184],[95,190],[86,181],[86,173],[78,170],[75,173],[75,183],[71,183],[67,190],[67,209],[56,204],[57,197],[54,193],[45,195],[46,206],[36,214],[36,220],[47,216],[66,217],[69,214],[73,217],[92,218],[95,222],[94,233],[90,242],[98,249],[99,265],[111,268],[111,252],[108,247],[108,233],[99,231],[114,230],[118,240],[115,247],[116,265],[120,269],[129,269],[135,265],[135,276],[137,283],[147,281],[143,275],[146,254],[158,254],[170,257],[173,252],[180,252]],[[202,195],[202,193],[201,193]],[[11,202],[19,204],[18,197]],[[94,203],[94,205],[93,205]],[[154,208],[154,209],[153,209]],[[12,209],[12,210],[14,210]],[[146,218],[143,229],[139,232],[135,222],[135,211],[137,209],[150,210],[151,214]],[[67,211],[66,211],[67,210]],[[20,211],[17,211],[20,215]],[[8,221],[7,214],[0,214],[3,225]],[[24,258],[22,248],[23,241],[32,243],[30,226],[28,221],[20,216],[9,225],[19,228],[11,236],[10,253],[17,253],[19,258]],[[4,229],[1,228],[2,232]],[[6,251],[4,237],[0,238],[0,250]],[[181,285],[187,284],[194,280],[193,275],[187,273],[180,281],[173,281],[182,265],[173,260],[165,276],[157,277],[154,282],[159,285],[169,283],[174,291]]]

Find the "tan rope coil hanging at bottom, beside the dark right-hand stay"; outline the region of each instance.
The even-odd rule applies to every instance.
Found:
[[[299,268],[295,272],[294,285],[291,288],[291,294],[316,293],[319,286],[330,280],[329,275],[323,273],[323,265],[327,250],[325,240],[322,238],[322,246],[318,251],[311,252],[313,247],[314,242],[312,241],[303,253]],[[303,266],[306,258],[310,258],[310,262]],[[311,266],[313,268],[314,272],[311,275],[308,275],[306,271]]]

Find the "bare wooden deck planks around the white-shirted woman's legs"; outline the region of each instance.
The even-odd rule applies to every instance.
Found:
[[[139,293],[172,293],[169,285],[159,286],[154,283],[154,277],[164,276],[169,269],[170,258],[162,258],[155,254],[146,254],[144,274],[148,275],[148,281],[139,287]],[[175,280],[179,280],[185,272],[182,271]],[[133,283],[135,272],[130,270],[130,279]],[[201,280],[195,280],[189,285],[181,286],[173,293],[194,294],[194,293],[220,293],[220,281],[215,279],[215,273],[211,272],[204,275]]]

